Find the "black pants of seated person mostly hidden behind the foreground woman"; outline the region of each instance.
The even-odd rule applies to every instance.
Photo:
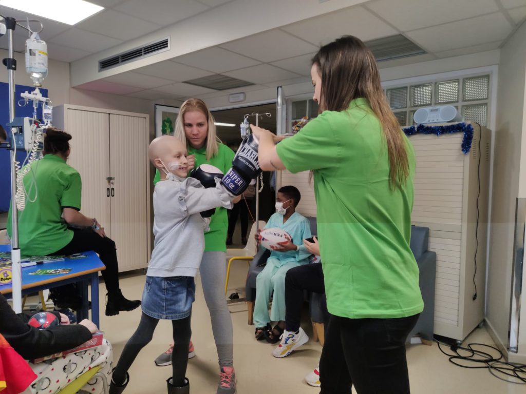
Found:
[[[304,291],[325,293],[321,263],[305,264],[289,269],[285,274],[285,329],[299,330],[301,305],[304,302]],[[329,322],[327,301],[322,297],[323,324]]]

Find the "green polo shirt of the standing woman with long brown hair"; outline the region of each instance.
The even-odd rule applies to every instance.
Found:
[[[382,126],[368,101],[324,111],[277,145],[285,167],[313,170],[327,307],[348,318],[397,318],[422,312],[418,266],[409,247],[414,151],[404,136],[410,175],[389,187]]]

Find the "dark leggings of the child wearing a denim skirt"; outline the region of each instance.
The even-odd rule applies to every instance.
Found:
[[[190,344],[192,334],[190,318],[191,315],[184,319],[171,320],[174,337],[174,351],[171,354],[171,384],[176,387],[185,385],[186,367],[188,365],[188,345]],[[128,339],[117,362],[117,367],[115,367],[113,372],[112,380],[117,385],[124,383],[126,380],[126,372],[131,367],[131,364],[133,364],[139,351],[150,343],[157,323],[159,323],[159,319],[150,317],[144,313],[141,316],[139,326],[135,330],[134,335]]]

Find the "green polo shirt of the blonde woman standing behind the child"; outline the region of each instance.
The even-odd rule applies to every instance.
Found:
[[[224,174],[232,167],[234,160],[234,151],[222,143],[218,143],[217,154],[210,160],[206,160],[206,147],[195,149],[188,146],[188,154],[194,154],[196,157],[195,167],[201,164],[214,165]],[[159,181],[159,171],[155,172],[154,185]],[[205,252],[226,252],[226,238],[228,229],[228,215],[225,208],[216,208],[210,220],[210,231],[205,233]]]

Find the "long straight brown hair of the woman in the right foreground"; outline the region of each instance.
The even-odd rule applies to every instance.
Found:
[[[319,111],[343,111],[352,100],[366,98],[387,141],[389,184],[392,189],[405,184],[409,175],[406,143],[383,93],[372,52],[359,38],[343,36],[322,46],[312,64],[321,74]]]

